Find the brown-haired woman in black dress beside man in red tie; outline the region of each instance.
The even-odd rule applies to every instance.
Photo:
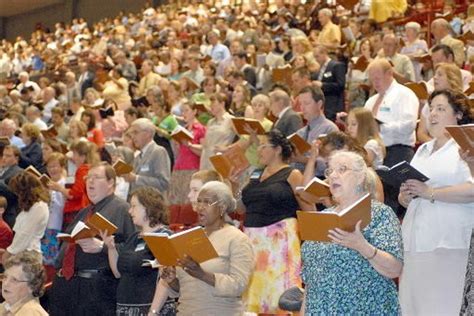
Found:
[[[122,245],[115,245],[114,237],[101,232],[108,249],[109,265],[116,278],[117,315],[146,316],[149,313],[157,282],[158,269],[143,266],[146,260],[154,260],[153,254],[142,239],[143,233],[166,233],[168,209],[161,193],[151,187],[141,187],[132,193],[130,215],[133,223],[140,227]],[[168,299],[157,315],[175,315],[173,299]]]

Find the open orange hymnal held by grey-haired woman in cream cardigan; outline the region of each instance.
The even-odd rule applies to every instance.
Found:
[[[164,266],[178,265],[178,259],[184,259],[185,255],[198,263],[218,257],[204,229],[199,226],[171,236],[144,233],[143,239],[159,264]]]

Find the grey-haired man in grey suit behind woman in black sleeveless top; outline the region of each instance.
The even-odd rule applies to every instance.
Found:
[[[301,116],[291,108],[291,99],[288,93],[276,89],[269,94],[270,110],[277,118],[273,128],[278,129],[283,135],[289,136],[303,127]]]

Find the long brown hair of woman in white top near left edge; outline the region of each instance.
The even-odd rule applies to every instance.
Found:
[[[14,176],[9,182],[9,187],[18,196],[18,205],[24,212],[28,212],[36,202],[49,202],[48,190],[37,177],[27,171]]]

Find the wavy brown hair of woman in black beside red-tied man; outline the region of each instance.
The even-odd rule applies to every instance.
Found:
[[[145,208],[150,227],[158,224],[168,225],[168,204],[160,191],[152,187],[140,187],[132,192],[131,197],[134,196]]]

